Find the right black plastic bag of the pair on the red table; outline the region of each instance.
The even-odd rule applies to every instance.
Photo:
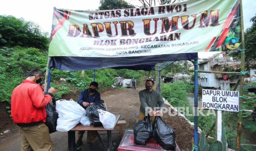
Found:
[[[162,121],[160,117],[156,117],[154,121],[153,138],[166,150],[175,149],[175,131]]]

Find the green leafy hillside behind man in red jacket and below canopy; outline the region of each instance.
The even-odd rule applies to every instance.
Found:
[[[36,48],[13,47],[0,48],[0,100],[10,102],[13,89],[19,85],[26,74],[33,68],[40,68],[45,72],[47,53]],[[99,89],[110,88],[116,76],[141,79],[141,71],[100,69],[95,72],[95,80],[99,83]],[[52,70],[51,86],[57,89],[56,99],[59,100],[64,94],[69,94],[74,89],[84,90],[89,87],[93,80],[93,71],[85,71],[84,77],[81,71]],[[61,78],[66,82],[61,82]]]

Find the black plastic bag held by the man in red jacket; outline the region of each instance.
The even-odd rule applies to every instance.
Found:
[[[48,127],[49,132],[56,132],[58,113],[56,112],[56,108],[52,106],[50,103],[46,104],[46,122],[45,125]]]

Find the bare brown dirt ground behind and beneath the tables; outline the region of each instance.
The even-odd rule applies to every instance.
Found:
[[[127,121],[126,129],[133,129],[136,124],[136,112],[139,111],[140,102],[138,92],[143,88],[138,88],[137,90],[132,89],[110,89],[104,92],[101,92],[102,100],[105,100],[106,105],[108,107],[108,111],[113,114],[121,114],[121,119]],[[75,91],[72,94],[65,95],[63,98],[69,100],[73,98],[77,100],[79,95],[79,91]],[[17,131],[17,127],[13,124],[12,120],[9,118],[8,113],[3,113],[5,111],[4,104],[0,104],[1,106],[1,133],[7,129],[11,130],[5,135],[0,136],[0,150],[20,150],[20,138],[19,133]],[[192,140],[193,140],[193,127],[191,127],[186,120],[181,117],[169,117],[168,115],[164,115],[163,120],[170,125],[176,132],[176,142],[180,149],[191,149],[192,148]],[[2,122],[4,121],[4,122]],[[118,128],[115,132],[118,131]],[[106,141],[106,135],[101,134],[102,140]],[[113,133],[113,147],[116,150],[121,139],[119,138],[118,133]],[[51,134],[51,138],[54,145],[54,150],[67,150],[67,132],[54,132]],[[83,138],[84,145],[82,149],[88,148],[88,144],[86,144],[86,135]],[[97,141],[99,143],[99,141]],[[102,150],[99,146],[97,150]]]

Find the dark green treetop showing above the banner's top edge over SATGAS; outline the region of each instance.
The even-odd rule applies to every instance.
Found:
[[[123,0],[101,0],[100,10],[134,8],[134,5]]]

